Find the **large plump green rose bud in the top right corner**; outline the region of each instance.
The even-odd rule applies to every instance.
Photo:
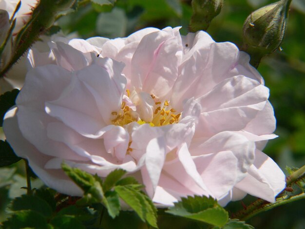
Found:
[[[243,49],[251,55],[251,64],[255,67],[262,57],[280,46],[290,2],[291,0],[281,0],[264,6],[246,19],[243,27]]]

